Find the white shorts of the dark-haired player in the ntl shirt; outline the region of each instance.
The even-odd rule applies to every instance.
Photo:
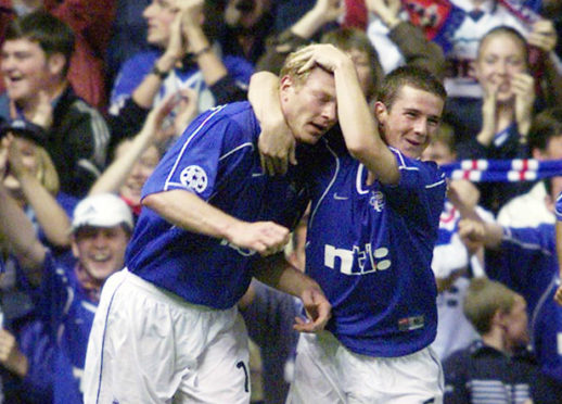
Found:
[[[328,331],[302,333],[286,403],[440,404],[443,371],[430,348],[372,357],[350,352]]]

